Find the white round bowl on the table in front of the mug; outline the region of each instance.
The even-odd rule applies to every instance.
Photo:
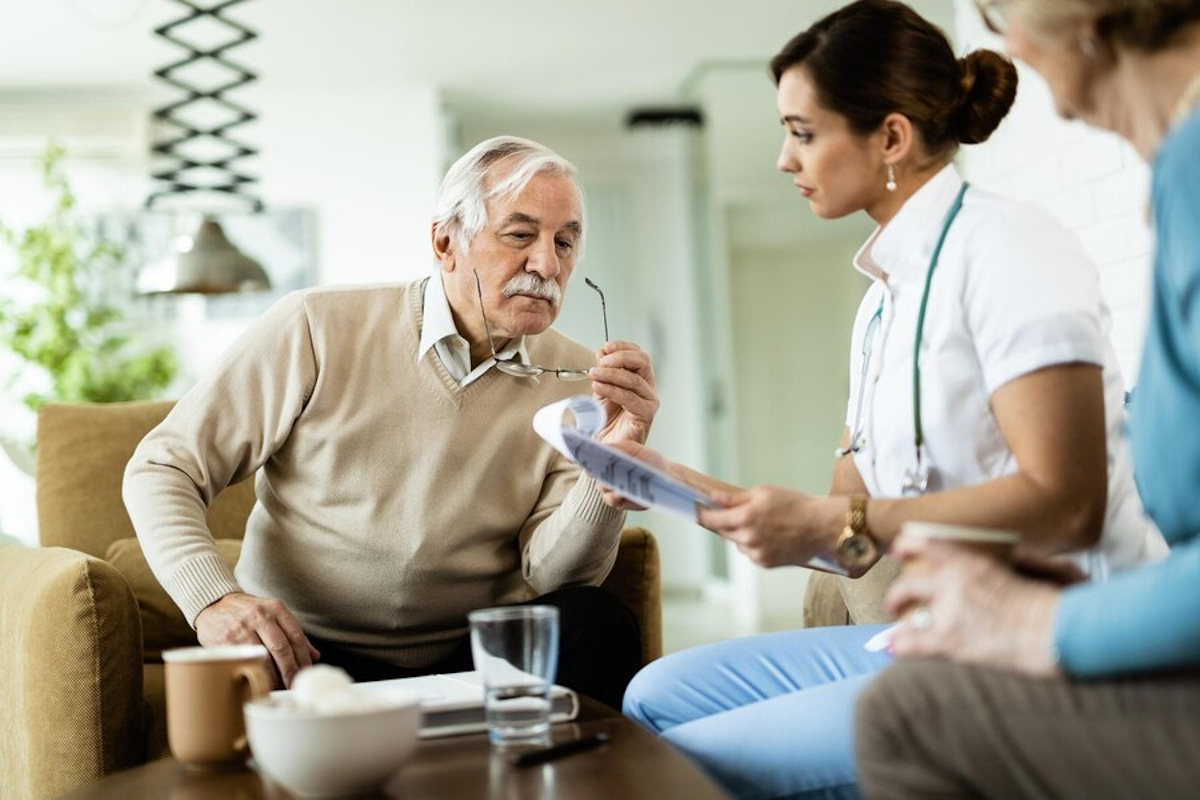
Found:
[[[380,697],[370,709],[319,714],[265,697],[246,703],[245,711],[259,769],[293,794],[310,798],[383,786],[416,746],[421,716],[410,697]]]

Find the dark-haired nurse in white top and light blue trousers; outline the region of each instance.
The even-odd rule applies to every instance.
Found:
[[[763,566],[871,567],[905,521],[1018,533],[1022,558],[1073,554],[1103,577],[1156,558],[1118,432],[1123,384],[1097,272],[1044,212],[968,186],[950,164],[1007,114],[1003,56],[956,59],[907,6],[860,0],[770,65],[779,169],[823,218],[865,211],[871,279],[851,343],[846,427],[828,497],[719,485],[701,522]],[[668,656],[625,714],[738,796],[854,796],[854,699],[890,662],[882,626],[792,631]]]

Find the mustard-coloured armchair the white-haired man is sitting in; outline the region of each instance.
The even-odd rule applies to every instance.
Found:
[[[170,403],[47,405],[38,414],[42,547],[0,543],[0,798],[54,798],[167,751],[162,650],[196,644],[154,579],[121,503],[125,464]],[[209,527],[241,551],[253,487],[217,498]],[[630,528],[604,584],[662,651],[659,553]]]

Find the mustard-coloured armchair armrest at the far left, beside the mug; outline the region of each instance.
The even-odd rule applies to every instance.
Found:
[[[0,795],[49,798],[144,760],[142,622],[107,563],[0,543]]]

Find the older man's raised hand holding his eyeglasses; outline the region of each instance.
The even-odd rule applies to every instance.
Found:
[[[644,444],[659,410],[650,356],[631,342],[605,342],[592,368],[592,393],[604,404],[608,425],[598,439],[605,444]]]

